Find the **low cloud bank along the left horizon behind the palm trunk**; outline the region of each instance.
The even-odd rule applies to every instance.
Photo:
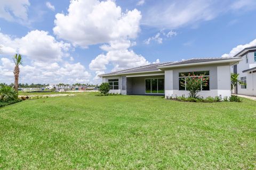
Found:
[[[13,62],[9,58],[0,60],[0,82],[13,82]],[[89,83],[91,74],[81,63],[31,62],[20,66],[21,83]]]

